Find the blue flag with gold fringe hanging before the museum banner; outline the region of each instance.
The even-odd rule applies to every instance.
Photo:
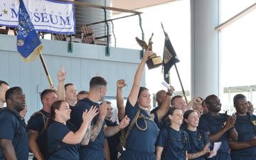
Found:
[[[31,22],[26,6],[23,0],[20,0],[18,9],[18,28],[17,28],[17,50],[21,58],[26,62],[36,60],[41,54],[43,45],[40,41],[38,33]]]

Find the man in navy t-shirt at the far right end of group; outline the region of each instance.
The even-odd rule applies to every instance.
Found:
[[[233,102],[237,116],[235,129],[238,132],[238,141],[233,142],[229,139],[231,158],[256,159],[256,116],[248,112],[245,95],[235,95]]]

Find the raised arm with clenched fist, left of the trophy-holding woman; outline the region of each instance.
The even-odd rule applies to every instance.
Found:
[[[124,112],[125,112],[125,107],[124,107],[124,96],[122,95],[122,87],[124,87],[125,80],[117,80],[117,115],[118,119],[122,120],[124,118]]]

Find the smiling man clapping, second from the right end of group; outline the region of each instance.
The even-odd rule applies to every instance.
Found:
[[[225,159],[230,160],[228,138],[236,142],[238,139],[238,132],[236,132],[234,124],[236,115],[219,113],[221,110],[220,99],[216,95],[209,95],[206,97],[206,106],[208,107],[208,114],[202,114],[199,120],[198,129],[203,130],[208,134],[210,142],[222,142],[220,149],[212,160]],[[213,146],[210,148],[213,150]]]

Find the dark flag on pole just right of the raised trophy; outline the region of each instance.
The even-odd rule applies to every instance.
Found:
[[[174,50],[174,47],[171,45],[171,41],[167,33],[165,33],[165,41],[164,41],[164,55],[163,55],[163,63],[164,63],[164,80],[169,84],[169,70],[171,67],[178,63],[178,56]]]

